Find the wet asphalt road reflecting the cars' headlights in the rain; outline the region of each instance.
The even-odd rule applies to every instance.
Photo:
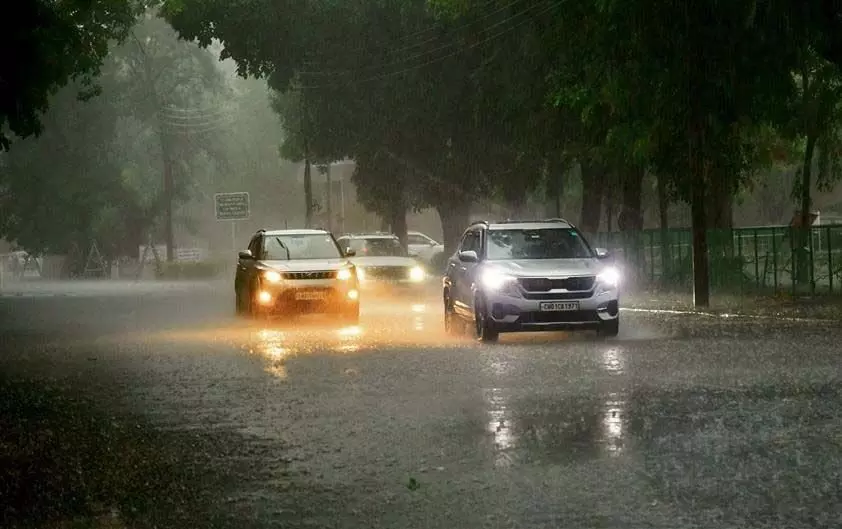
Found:
[[[227,283],[0,296],[11,373],[225,436],[218,504],[268,527],[838,527],[842,325],[624,312],[618,339],[233,316]],[[198,486],[199,484],[197,484]]]

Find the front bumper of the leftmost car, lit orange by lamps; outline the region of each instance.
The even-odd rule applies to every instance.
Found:
[[[356,282],[337,279],[263,281],[256,295],[264,312],[338,313],[353,309],[360,299]]]

